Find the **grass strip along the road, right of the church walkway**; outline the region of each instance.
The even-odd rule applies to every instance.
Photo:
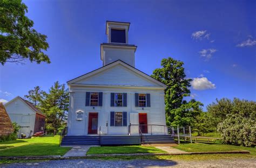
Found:
[[[223,144],[204,144],[204,143],[187,143],[174,146],[186,152],[219,152],[219,151],[241,151],[247,150],[250,151],[251,155],[256,155],[255,148],[248,148],[244,146],[234,146],[234,145],[223,145]]]

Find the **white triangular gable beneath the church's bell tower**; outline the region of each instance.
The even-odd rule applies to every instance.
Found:
[[[166,87],[164,83],[120,60],[68,81],[68,84]]]

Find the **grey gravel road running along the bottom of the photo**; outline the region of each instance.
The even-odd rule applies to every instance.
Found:
[[[50,160],[38,163],[16,163],[0,167],[256,167],[256,159],[171,161],[171,160]]]

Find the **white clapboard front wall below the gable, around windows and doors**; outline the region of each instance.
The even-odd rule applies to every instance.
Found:
[[[147,124],[165,125],[164,91],[143,89],[121,89],[121,88],[72,88],[70,97],[71,108],[68,119],[68,135],[87,135],[89,113],[98,113],[98,132],[107,135],[127,135],[129,124],[138,124],[138,114],[147,113]],[[103,92],[103,106],[85,106],[86,92]],[[111,107],[111,93],[127,93],[127,107]],[[151,107],[135,107],[135,93],[149,93],[151,95]],[[73,101],[72,101],[73,100]],[[82,121],[77,121],[77,111],[83,111]],[[127,112],[126,127],[111,127],[110,112]],[[133,117],[133,118],[131,118]],[[107,124],[107,127],[106,127]]]

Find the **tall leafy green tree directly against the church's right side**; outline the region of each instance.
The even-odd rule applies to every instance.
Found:
[[[183,62],[173,58],[163,59],[161,68],[151,75],[154,79],[167,85],[165,89],[165,113],[168,125],[192,125],[194,118],[200,114],[202,103],[184,100],[190,96],[191,79],[186,79]]]

